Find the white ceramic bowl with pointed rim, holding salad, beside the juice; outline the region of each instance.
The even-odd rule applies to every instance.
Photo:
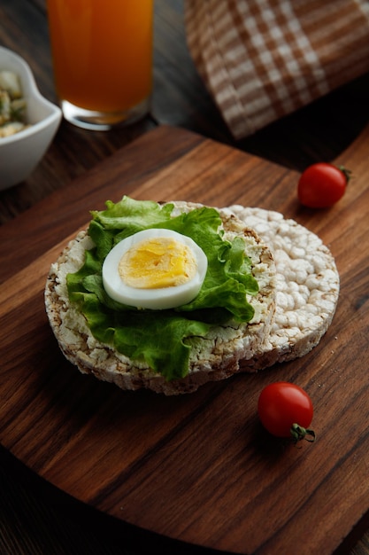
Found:
[[[60,108],[40,94],[27,62],[0,46],[0,71],[4,69],[19,75],[31,126],[0,138],[0,190],[27,179],[48,149],[62,117]]]

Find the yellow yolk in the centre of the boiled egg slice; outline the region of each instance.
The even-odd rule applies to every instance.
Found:
[[[196,258],[191,249],[173,238],[142,240],[127,250],[119,261],[119,276],[138,289],[175,287],[196,275]]]

